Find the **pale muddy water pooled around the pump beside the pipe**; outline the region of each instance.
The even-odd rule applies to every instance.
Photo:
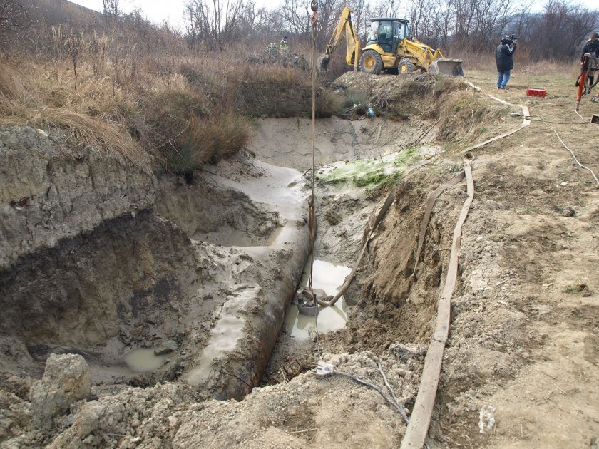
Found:
[[[314,275],[312,287],[323,289],[328,295],[337,294],[345,277],[352,269],[343,265],[332,264],[324,260],[314,260]],[[309,272],[309,267],[306,270]],[[302,279],[302,285],[307,284],[307,276]],[[343,296],[334,306],[318,308],[318,331],[330,332],[343,329],[347,323],[347,306]],[[316,332],[314,316],[299,314],[297,305],[291,304],[285,315],[285,330],[296,339],[307,339]]]

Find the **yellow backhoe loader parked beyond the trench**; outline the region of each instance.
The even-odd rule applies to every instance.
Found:
[[[367,43],[360,51],[352,10],[344,8],[324,55],[319,58],[319,70],[327,71],[334,48],[344,36],[347,41],[345,61],[354,70],[377,75],[386,69],[409,73],[421,69],[449,76],[464,76],[461,59],[444,58],[441,50],[411,38],[409,21],[383,17],[370,19]],[[359,56],[359,53],[362,56]]]

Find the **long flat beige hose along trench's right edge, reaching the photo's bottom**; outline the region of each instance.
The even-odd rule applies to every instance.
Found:
[[[431,338],[429,349],[426,352],[424,369],[414,404],[413,413],[406,430],[406,435],[401,441],[401,449],[418,448],[421,449],[426,440],[426,434],[429,432],[433,406],[435,403],[437,386],[441,376],[441,363],[443,362],[443,351],[447,337],[449,336],[449,316],[451,312],[451,295],[456,287],[458,275],[458,254],[460,251],[462,225],[468,217],[470,205],[474,197],[474,182],[472,179],[472,170],[470,161],[464,160],[464,173],[466,175],[466,186],[468,197],[464,201],[464,206],[460,212],[456,227],[454,228],[454,239],[451,244],[451,255],[449,256],[449,266],[447,267],[447,277],[437,311],[435,333]]]

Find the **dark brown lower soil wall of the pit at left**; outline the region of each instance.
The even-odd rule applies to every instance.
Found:
[[[153,212],[103,222],[92,232],[21,257],[0,272],[1,332],[27,344],[101,346],[130,334],[177,326],[170,309],[198,274],[193,248],[177,227]],[[147,325],[147,319],[153,326]],[[139,324],[139,323],[138,323]]]

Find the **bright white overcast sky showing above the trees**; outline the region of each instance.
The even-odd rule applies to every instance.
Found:
[[[88,8],[95,9],[96,11],[102,11],[102,0],[71,0],[73,3],[87,6]],[[307,1],[307,0],[306,0]],[[132,11],[136,6],[139,6],[145,16],[151,21],[160,24],[163,20],[168,20],[171,24],[178,26],[182,21],[183,16],[183,4],[185,0],[121,0],[121,8],[125,12]],[[259,6],[265,6],[267,9],[278,6],[280,0],[258,0],[256,2]],[[407,3],[407,0],[402,0],[401,4]],[[540,6],[545,4],[546,1],[534,1],[535,8],[540,9]],[[573,1],[575,4],[583,4],[589,9],[597,9],[598,2],[595,0],[579,0]],[[401,8],[400,8],[401,11]]]

